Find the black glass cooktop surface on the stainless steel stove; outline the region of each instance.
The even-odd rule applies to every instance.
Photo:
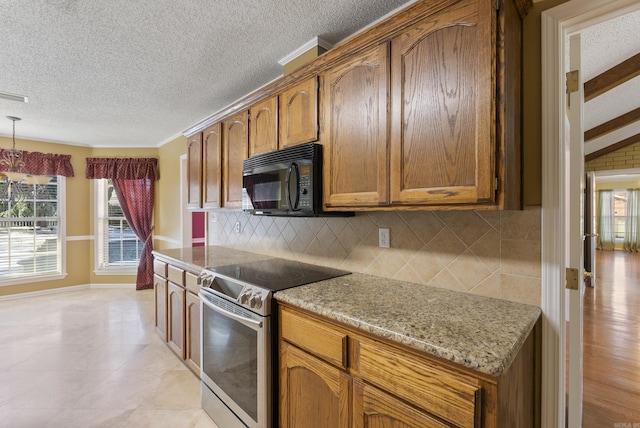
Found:
[[[287,259],[238,263],[209,268],[209,270],[271,291],[284,290],[351,273]]]

